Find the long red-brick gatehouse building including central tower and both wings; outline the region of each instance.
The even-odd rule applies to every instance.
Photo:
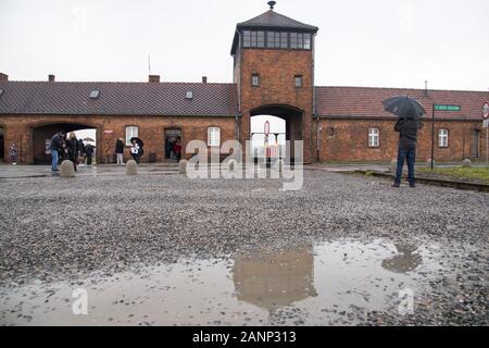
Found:
[[[481,107],[485,91],[423,90],[367,87],[317,87],[314,60],[318,28],[273,10],[239,23],[233,40],[231,84],[77,83],[9,80],[0,73],[0,157],[15,142],[21,163],[47,163],[46,141],[61,129],[96,128],[97,157],[112,154],[115,139],[134,135],[145,140],[142,161],[163,161],[167,138],[181,137],[218,146],[251,137],[254,115],[286,121],[286,139],[303,140],[304,162],[388,161],[397,156],[394,117],[381,101],[409,94],[431,109],[456,104],[460,111],[438,111],[435,158],[459,161],[485,157]],[[430,112],[429,112],[430,113]],[[425,116],[417,158],[430,158],[431,121]],[[128,157],[128,151],[126,153]]]

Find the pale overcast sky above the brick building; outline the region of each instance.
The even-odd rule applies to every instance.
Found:
[[[265,0],[0,0],[11,79],[231,82],[236,23]],[[489,89],[489,1],[278,0],[317,25],[316,85]]]

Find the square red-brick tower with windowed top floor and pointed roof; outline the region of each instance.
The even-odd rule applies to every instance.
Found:
[[[303,140],[303,161],[309,163],[315,159],[314,38],[318,28],[275,12],[275,4],[269,1],[268,11],[236,27],[231,55],[240,141],[244,145],[251,137],[252,116],[274,115],[286,121],[287,140]]]

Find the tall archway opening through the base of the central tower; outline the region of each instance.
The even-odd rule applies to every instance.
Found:
[[[277,119],[281,119],[281,122]],[[268,139],[265,138],[263,127],[261,127],[261,130],[256,128],[256,121],[259,120],[267,120],[269,122]],[[289,105],[264,105],[253,109],[250,112],[250,129],[252,147],[263,139],[264,157],[273,156],[275,158],[290,159],[293,163],[297,157],[294,154],[294,141],[302,140],[303,111]],[[286,146],[286,141],[290,141],[290,147]],[[272,149],[274,147],[277,149],[267,151],[266,144],[268,144],[268,147],[272,146]],[[256,154],[260,158],[260,150]],[[253,157],[255,158],[255,152],[253,152]]]

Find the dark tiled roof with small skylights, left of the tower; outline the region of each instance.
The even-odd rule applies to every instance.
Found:
[[[3,82],[0,114],[201,115],[238,113],[235,84]],[[92,90],[100,90],[96,99]],[[193,99],[186,99],[192,91]]]

